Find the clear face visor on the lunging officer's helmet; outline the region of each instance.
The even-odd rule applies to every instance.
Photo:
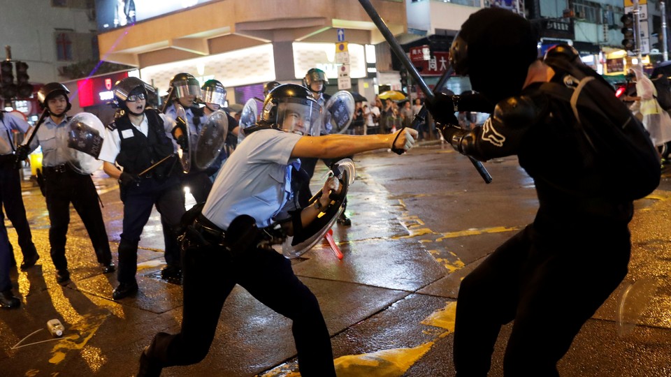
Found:
[[[285,98],[277,104],[277,126],[299,135],[319,136],[321,111],[316,102]]]

